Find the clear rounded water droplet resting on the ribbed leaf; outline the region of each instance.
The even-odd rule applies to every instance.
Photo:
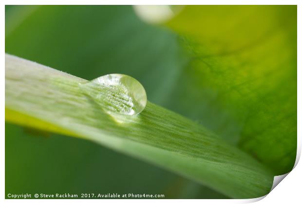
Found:
[[[137,115],[147,104],[143,85],[128,75],[108,74],[80,87],[109,114]]]

